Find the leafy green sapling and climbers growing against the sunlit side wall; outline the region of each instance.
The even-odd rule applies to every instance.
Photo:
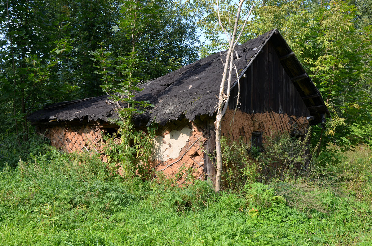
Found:
[[[135,128],[132,121],[135,114],[153,107],[148,101],[133,99],[135,93],[142,90],[138,87],[141,81],[133,72],[141,61],[134,58],[133,54],[113,58],[112,53],[105,49],[97,49],[91,55],[97,62],[96,73],[102,76],[102,88],[109,95],[109,103],[116,107],[119,115],[119,120],[112,121],[119,126],[117,134],[105,138],[104,152],[109,168],[114,175],[148,178],[152,141],[157,127],[151,125],[140,130]]]

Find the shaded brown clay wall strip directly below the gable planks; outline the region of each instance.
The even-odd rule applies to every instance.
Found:
[[[263,132],[262,141],[265,142],[270,134],[289,132],[296,135],[307,133],[309,121],[305,116],[289,116],[274,112],[247,114],[237,110],[228,109],[222,119],[221,135],[230,140],[238,141],[243,136],[244,141],[250,145],[253,132]]]

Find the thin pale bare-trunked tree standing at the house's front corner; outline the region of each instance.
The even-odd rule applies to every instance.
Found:
[[[224,62],[224,71],[222,73],[222,81],[221,81],[221,86],[219,89],[219,97],[218,97],[218,108],[217,108],[217,116],[216,116],[216,121],[215,121],[215,130],[216,130],[216,153],[217,153],[217,173],[216,173],[216,183],[215,183],[215,192],[219,192],[221,190],[221,173],[222,173],[222,153],[221,153],[221,121],[222,117],[226,113],[227,107],[228,107],[228,102],[230,99],[230,89],[231,89],[231,75],[233,72],[234,68],[234,50],[235,46],[237,45],[241,34],[244,30],[244,27],[246,26],[247,20],[252,12],[252,9],[254,5],[252,5],[246,20],[244,21],[244,24],[240,30],[240,33],[237,37],[237,32],[238,32],[238,23],[240,19],[240,13],[241,9],[243,6],[244,0],[239,0],[238,3],[238,10],[237,14],[235,17],[235,23],[234,23],[234,29],[232,29],[232,34],[230,36],[228,35],[227,31],[225,30],[224,26],[221,23],[221,16],[219,13],[219,5],[217,1],[217,14],[218,14],[218,22],[219,25],[221,26],[222,30],[224,31],[227,40],[229,42],[229,49],[227,50],[227,55],[226,59]],[[225,85],[227,83],[227,91],[225,94]]]

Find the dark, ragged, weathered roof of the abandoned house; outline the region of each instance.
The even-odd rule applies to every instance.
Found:
[[[269,39],[279,57],[288,56],[282,59],[282,65],[289,77],[294,78],[294,84],[300,95],[312,98],[312,100],[305,100],[304,102],[310,113],[316,116],[317,122],[320,122],[320,114],[329,114],[323,98],[321,98],[319,91],[307,76],[296,56],[291,55],[293,54],[291,53],[292,50],[278,30],[271,30],[235,48],[234,63],[240,76],[243,75],[251,61],[259,54]],[[226,51],[209,55],[163,77],[143,84],[143,90],[135,96],[135,100],[150,101],[155,107],[136,116],[136,118],[145,121],[150,120],[150,122],[155,121],[164,125],[169,120],[176,120],[180,117],[194,120],[196,116],[200,115],[212,116],[216,111],[217,95],[219,94],[224,69],[221,56],[224,59]],[[232,75],[232,81],[237,81],[235,73]],[[109,118],[116,118],[116,114],[113,105],[106,103],[106,98],[106,96],[100,96],[51,104],[47,108],[29,115],[28,118],[32,122],[48,122],[53,119],[57,119],[57,121],[77,119],[80,121],[107,121]]]

